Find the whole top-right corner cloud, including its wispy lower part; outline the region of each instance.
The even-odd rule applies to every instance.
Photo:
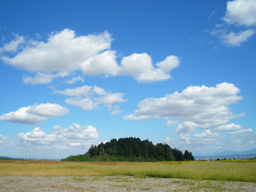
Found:
[[[256,33],[255,29],[249,28],[256,26],[256,1],[227,1],[227,12],[222,20],[225,23],[217,25],[218,28],[215,28],[210,34],[219,37],[227,46],[240,46]],[[230,25],[245,26],[247,29],[234,32],[228,30]]]

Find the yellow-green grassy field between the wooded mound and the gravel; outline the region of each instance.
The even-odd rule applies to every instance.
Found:
[[[116,176],[256,183],[256,161],[60,162],[0,161],[0,176]]]

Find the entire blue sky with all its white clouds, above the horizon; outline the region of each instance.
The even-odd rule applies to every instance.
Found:
[[[256,1],[0,2],[0,155],[120,137],[256,147]]]

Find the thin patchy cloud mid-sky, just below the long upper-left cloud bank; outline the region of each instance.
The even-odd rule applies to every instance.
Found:
[[[103,88],[97,86],[83,85],[78,88],[68,88],[64,91],[55,91],[54,93],[63,94],[65,96],[74,96],[66,99],[67,104],[72,104],[76,107],[80,107],[82,110],[97,110],[100,104],[105,104],[108,108],[112,108],[112,104],[126,102],[124,99],[124,93],[111,93],[107,92]],[[116,112],[111,112],[111,115],[115,115],[121,112],[116,109]]]

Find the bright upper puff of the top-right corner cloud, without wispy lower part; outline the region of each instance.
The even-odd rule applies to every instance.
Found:
[[[227,1],[227,12],[222,18],[228,24],[239,26],[256,25],[256,1],[235,0]]]

